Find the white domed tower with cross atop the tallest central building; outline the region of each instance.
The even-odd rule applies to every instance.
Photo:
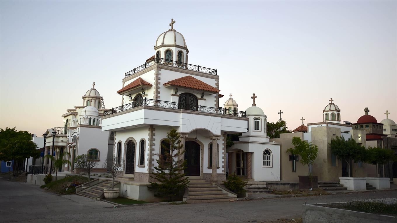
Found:
[[[175,22],[176,21],[171,19],[171,29],[160,34],[154,45],[154,50],[156,51],[155,58],[160,58],[158,60],[162,63],[187,63],[187,54],[189,50],[187,49],[185,37],[173,29],[173,24]],[[181,66],[183,66],[183,64],[181,64]]]

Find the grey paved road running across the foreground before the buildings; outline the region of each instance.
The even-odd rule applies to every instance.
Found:
[[[265,200],[112,207],[77,195],[58,196],[28,183],[0,179],[0,222],[248,222],[299,217],[304,202],[341,202],[351,199],[397,198],[397,191],[335,194]],[[176,218],[176,219],[174,219]]]

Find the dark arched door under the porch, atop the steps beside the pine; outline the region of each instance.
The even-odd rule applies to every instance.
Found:
[[[187,176],[200,176],[200,145],[195,141],[185,142],[185,160]]]

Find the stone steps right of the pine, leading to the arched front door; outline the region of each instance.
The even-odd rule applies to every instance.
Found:
[[[207,183],[205,180],[189,179],[189,181],[187,203],[222,202],[237,199],[237,197],[229,196],[222,188]]]

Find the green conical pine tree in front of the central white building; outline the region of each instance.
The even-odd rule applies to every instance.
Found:
[[[167,198],[173,201],[179,194],[187,188],[189,183],[188,179],[185,177],[183,170],[186,169],[186,160],[178,159],[183,155],[184,151],[181,151],[183,145],[181,145],[180,135],[177,133],[176,129],[171,129],[167,133],[166,142],[168,146],[162,144],[162,149],[164,154],[160,152],[157,154],[159,159],[157,159],[158,166],[154,167],[157,172],[153,172],[154,176],[150,176],[156,179],[157,182],[150,182],[150,190],[154,191],[154,196]]]

